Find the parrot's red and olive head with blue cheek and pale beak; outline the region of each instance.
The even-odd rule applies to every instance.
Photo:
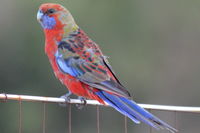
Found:
[[[77,25],[71,13],[62,5],[55,3],[45,3],[39,7],[37,20],[47,30],[63,29],[72,30]]]

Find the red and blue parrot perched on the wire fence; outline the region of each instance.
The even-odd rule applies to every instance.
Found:
[[[155,129],[178,130],[140,107],[122,85],[99,46],[76,24],[71,13],[57,3],[41,4],[37,20],[45,35],[47,54],[55,76],[68,88],[65,95],[108,104],[130,118]]]

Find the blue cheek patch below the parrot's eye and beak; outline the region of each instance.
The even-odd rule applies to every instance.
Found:
[[[44,15],[42,18],[42,27],[44,29],[53,29],[53,27],[56,25],[56,20],[54,17],[49,17],[47,15]]]

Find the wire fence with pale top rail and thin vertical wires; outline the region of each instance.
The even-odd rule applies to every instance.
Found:
[[[15,100],[19,102],[19,130],[18,133],[22,133],[22,101],[32,101],[32,102],[42,102],[43,103],[43,121],[42,121],[42,133],[46,133],[46,104],[47,103],[62,103],[68,104],[68,133],[72,133],[72,104],[84,104],[83,101],[79,99],[70,99],[66,102],[63,98],[55,97],[42,97],[42,96],[28,96],[28,95],[15,95],[15,94],[0,94],[0,100],[7,102],[8,100]],[[109,105],[102,105],[95,100],[86,100],[87,105],[96,106],[96,129],[97,133],[100,133],[100,106],[109,107]],[[200,107],[186,107],[186,106],[168,106],[168,105],[152,105],[152,104],[139,104],[145,109],[160,110],[160,111],[170,111],[174,113],[174,127],[177,128],[177,112],[190,112],[190,113],[200,113]],[[127,117],[124,117],[124,133],[128,133]],[[149,130],[152,133],[152,128]]]

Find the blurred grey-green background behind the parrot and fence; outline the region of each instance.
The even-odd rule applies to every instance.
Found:
[[[67,89],[55,78],[36,20],[40,4],[67,7],[97,42],[119,79],[139,103],[200,106],[199,0],[1,0],[0,91],[59,97]],[[0,133],[18,132],[18,102],[0,103]],[[23,133],[42,132],[42,103],[22,103]],[[96,132],[96,110],[72,107],[72,132]],[[175,126],[173,112],[152,111]],[[124,132],[124,117],[100,108],[101,133]],[[65,133],[67,109],[47,104],[47,133]],[[199,114],[178,113],[180,133],[199,133]],[[128,132],[150,132],[128,121]],[[168,131],[155,131],[168,133]]]

